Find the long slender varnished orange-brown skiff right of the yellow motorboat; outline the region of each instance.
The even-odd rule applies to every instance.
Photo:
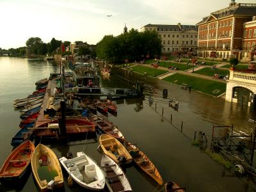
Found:
[[[148,157],[138,147],[136,147],[136,145],[125,142],[125,147],[131,154],[134,162],[138,164],[145,173],[156,180],[159,185],[162,185],[163,179],[152,161],[150,161],[150,159],[148,159]]]

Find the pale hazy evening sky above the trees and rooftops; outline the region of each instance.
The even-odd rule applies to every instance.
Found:
[[[0,0],[0,47],[26,46],[30,37],[97,44],[147,24],[195,25],[231,0]],[[256,0],[236,0],[256,3]],[[111,17],[107,17],[111,15]]]

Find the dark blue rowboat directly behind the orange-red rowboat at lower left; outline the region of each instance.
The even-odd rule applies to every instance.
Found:
[[[28,129],[28,127],[24,127],[24,129],[20,129],[17,134],[12,138],[11,145],[20,145],[20,143],[30,140],[33,136],[33,131]]]

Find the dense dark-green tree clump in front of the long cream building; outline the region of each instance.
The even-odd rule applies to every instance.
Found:
[[[96,45],[97,57],[111,63],[143,60],[161,54],[161,39],[156,31],[138,32],[131,29],[118,36],[106,35]]]

